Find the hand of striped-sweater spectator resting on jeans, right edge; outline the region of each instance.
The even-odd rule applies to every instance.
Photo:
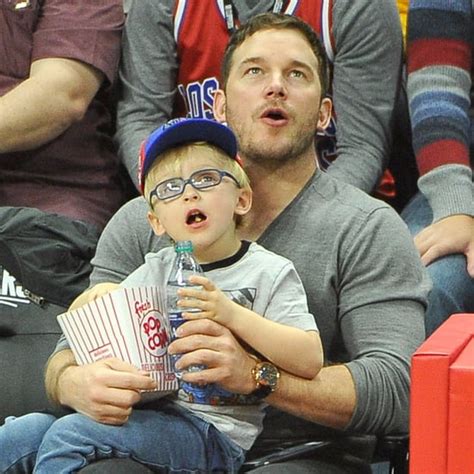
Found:
[[[415,237],[415,245],[424,265],[445,255],[463,253],[467,271],[474,277],[474,217],[454,215],[431,224]]]

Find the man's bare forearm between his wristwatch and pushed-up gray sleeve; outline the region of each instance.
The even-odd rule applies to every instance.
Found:
[[[314,380],[283,373],[266,401],[308,421],[344,429],[355,410],[356,392],[349,370],[337,365],[323,368]]]

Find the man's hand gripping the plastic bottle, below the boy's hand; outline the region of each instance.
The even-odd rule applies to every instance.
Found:
[[[233,334],[209,319],[182,324],[178,339],[169,347],[170,354],[183,354],[178,369],[204,364],[207,369],[183,374],[183,380],[199,384],[217,383],[234,393],[248,394],[255,389],[252,368],[255,360],[237,342]]]

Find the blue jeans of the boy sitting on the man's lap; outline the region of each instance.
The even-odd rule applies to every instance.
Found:
[[[0,428],[21,446],[8,455],[9,464],[0,472],[31,472],[35,458],[35,474],[69,474],[100,459],[131,458],[158,472],[232,473],[245,457],[245,451],[214,426],[173,404],[159,410],[136,409],[122,426],[98,423],[78,413],[49,424],[40,414],[26,418]],[[17,428],[7,434],[13,423]],[[0,433],[0,446],[1,442]]]

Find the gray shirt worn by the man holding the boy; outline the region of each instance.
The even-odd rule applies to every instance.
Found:
[[[139,197],[111,219],[92,261],[91,285],[121,282],[146,253],[170,245],[154,236],[147,211]],[[293,262],[326,359],[345,363],[352,374],[357,401],[347,429],[406,431],[410,359],[424,340],[429,283],[400,217],[385,203],[317,172],[258,243]],[[276,410],[267,424],[274,438],[279,430],[286,438],[321,433],[317,424]]]

